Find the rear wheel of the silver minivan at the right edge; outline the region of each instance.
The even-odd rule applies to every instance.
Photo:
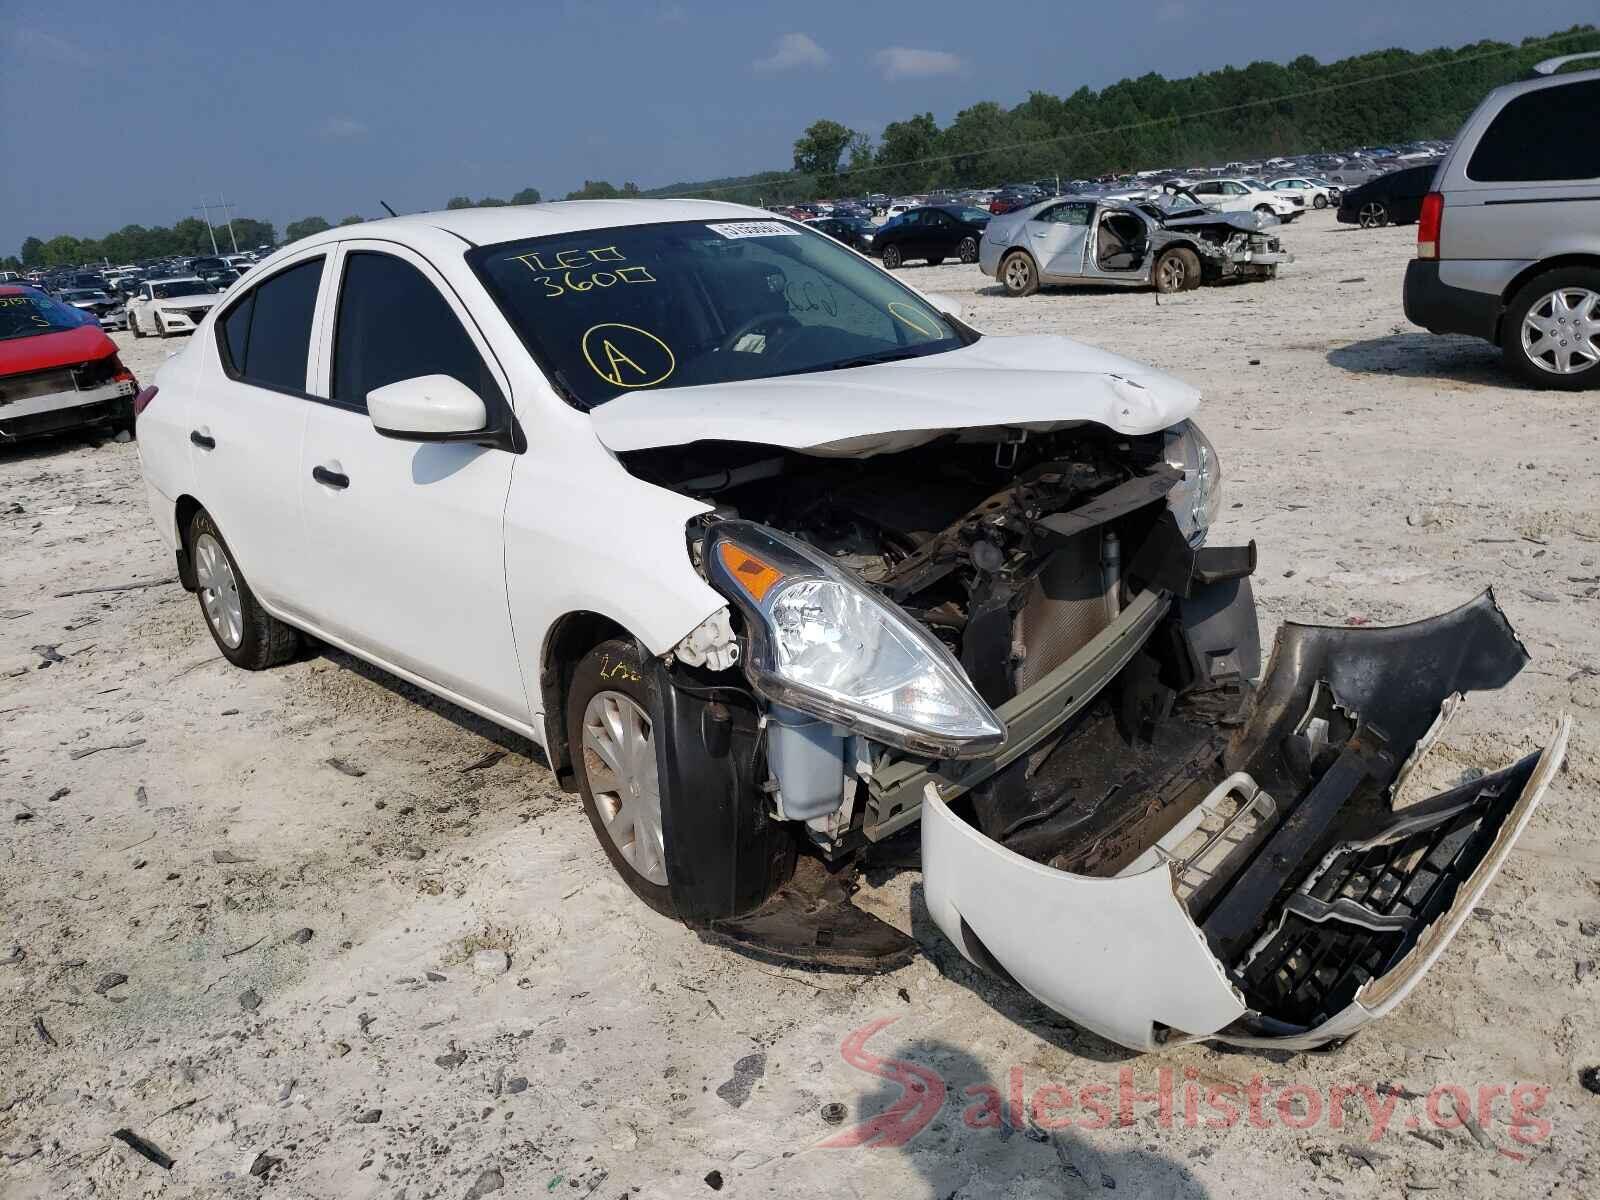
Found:
[[[1534,387],[1600,387],[1600,269],[1560,267],[1528,280],[1501,322],[1501,357]]]

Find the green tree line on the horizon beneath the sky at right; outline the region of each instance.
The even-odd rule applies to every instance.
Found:
[[[1594,26],[1520,45],[1381,50],[1326,64],[1301,54],[1176,80],[1149,74],[1067,96],[1034,91],[1011,109],[982,101],[942,126],[931,112],[914,114],[877,139],[822,118],[795,139],[790,171],[678,182],[645,195],[746,203],[904,195],[1450,138],[1491,88],[1526,78],[1541,59],[1582,50],[1600,50]]]

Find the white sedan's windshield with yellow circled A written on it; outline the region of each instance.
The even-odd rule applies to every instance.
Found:
[[[965,344],[914,291],[787,221],[677,221],[482,246],[467,261],[579,408]]]

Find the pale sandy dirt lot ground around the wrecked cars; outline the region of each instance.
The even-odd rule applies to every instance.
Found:
[[[1408,326],[1411,237],[1310,214],[1280,280],[1160,302],[906,270],[987,331],[1202,386],[1216,536],[1258,539],[1269,626],[1496,587],[1534,662],[1469,704],[1432,771],[1504,765],[1563,710],[1573,750],[1390,1018],[1326,1054],[1123,1054],[968,968],[888,866],[862,902],[918,936],[910,966],[734,957],[630,898],[518,739],[342,654],[229,669],[174,584],[58,595],[173,573],[136,446],[66,438],[0,451],[0,1195],[1600,1192],[1579,1086],[1600,1062],[1595,394],[1526,390],[1488,346]],[[118,339],[141,378],[173,349]],[[510,970],[477,974],[480,949]],[[1050,1085],[1042,1123],[1066,1128],[1026,1110]],[[1507,1091],[1464,1130],[1440,1086]],[[822,1146],[896,1101],[870,1144]]]

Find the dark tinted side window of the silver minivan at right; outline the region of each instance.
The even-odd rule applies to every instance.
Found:
[[[1483,131],[1467,178],[1486,184],[1600,179],[1600,80],[1514,96]]]

